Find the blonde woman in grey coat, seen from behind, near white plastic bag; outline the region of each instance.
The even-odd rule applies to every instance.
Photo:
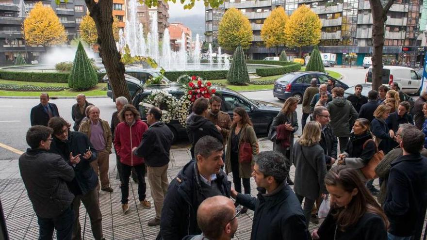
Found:
[[[321,193],[326,191],[324,178],[326,161],[323,148],[320,146],[322,126],[311,121],[303,129],[302,136],[294,145],[295,187],[294,191],[299,203],[304,201],[304,215],[307,227],[314,202]]]

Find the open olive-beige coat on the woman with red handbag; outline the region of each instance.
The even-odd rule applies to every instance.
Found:
[[[227,140],[227,154],[225,157],[225,172],[228,175],[231,172],[231,133],[236,127],[231,127],[230,134]],[[260,152],[258,146],[257,135],[252,126],[246,125],[242,127],[239,138],[239,149],[240,143],[247,142],[252,145],[252,161],[250,163],[239,163],[239,177],[241,178],[250,178],[252,174],[252,166],[255,164],[253,156],[257,155]]]

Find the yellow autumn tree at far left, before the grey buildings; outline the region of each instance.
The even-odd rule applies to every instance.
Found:
[[[51,7],[39,1],[24,20],[25,40],[29,45],[60,45],[66,42],[64,26]]]

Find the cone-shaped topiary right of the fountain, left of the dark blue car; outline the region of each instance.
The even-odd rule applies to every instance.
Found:
[[[237,46],[233,54],[233,61],[231,62],[230,70],[227,74],[227,80],[231,84],[243,85],[249,82],[249,74],[247,73],[247,66],[245,54],[242,47]]]

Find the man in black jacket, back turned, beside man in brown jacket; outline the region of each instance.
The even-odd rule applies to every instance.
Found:
[[[204,136],[213,136],[221,143],[224,138],[213,122],[209,121],[206,116],[209,114],[209,100],[208,98],[197,98],[193,104],[193,112],[187,120],[187,135],[191,143],[191,157],[194,159],[194,146],[197,141]]]

